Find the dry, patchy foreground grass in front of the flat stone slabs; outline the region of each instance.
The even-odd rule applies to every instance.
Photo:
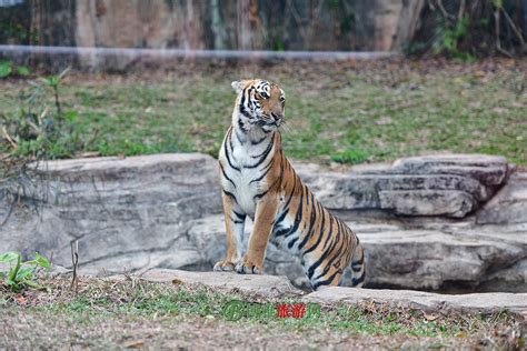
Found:
[[[0,291],[1,348],[167,348],[207,341],[216,347],[269,345],[320,348],[328,340],[344,344],[390,347],[520,347],[519,319],[493,315],[425,313],[364,303],[324,305],[320,315],[304,319],[243,317],[229,321],[225,305],[232,299],[252,303],[295,303],[218,292],[205,287],[82,279],[77,293],[66,278],[42,282],[47,291],[16,294]],[[279,339],[276,339],[280,337]],[[187,339],[186,339],[187,338]],[[255,341],[259,341],[255,343]],[[198,342],[198,344],[199,344]],[[145,344],[146,343],[146,344]]]

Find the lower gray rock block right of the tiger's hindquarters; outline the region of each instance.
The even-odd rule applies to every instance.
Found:
[[[526,233],[508,233],[503,240],[496,233],[485,234],[483,228],[477,233],[463,229],[355,229],[365,245],[369,287],[477,290],[489,274],[498,274],[509,279],[501,291],[527,292],[525,275],[516,277],[509,270],[527,259]]]

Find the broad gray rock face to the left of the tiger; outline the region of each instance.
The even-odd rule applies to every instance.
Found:
[[[51,194],[36,215],[16,208],[0,251],[34,251],[71,267],[70,242],[90,272],[193,263],[192,219],[219,213],[217,163],[196,153],[97,158],[47,164]],[[10,204],[0,202],[0,218]],[[167,258],[170,258],[167,260]]]

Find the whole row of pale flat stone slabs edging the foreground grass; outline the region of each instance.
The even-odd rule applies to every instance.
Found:
[[[527,293],[438,294],[412,290],[377,290],[331,287],[306,294],[294,288],[284,275],[237,274],[231,272],[189,272],[183,270],[151,269],[141,274],[150,282],[199,284],[225,292],[242,292],[267,298],[301,297],[304,302],[361,303],[374,301],[425,311],[460,311],[494,313],[510,311],[527,315]]]

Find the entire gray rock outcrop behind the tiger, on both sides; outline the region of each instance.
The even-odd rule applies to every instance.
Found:
[[[509,177],[503,158],[295,168],[365,244],[368,287],[527,291],[527,177]],[[39,251],[71,267],[70,242],[78,240],[80,271],[95,274],[208,271],[225,254],[217,164],[208,156],[63,160],[48,162],[44,173],[49,194],[38,214],[19,207],[10,213],[0,202],[0,218],[10,213],[0,252]],[[307,287],[297,258],[274,245],[265,269]]]

